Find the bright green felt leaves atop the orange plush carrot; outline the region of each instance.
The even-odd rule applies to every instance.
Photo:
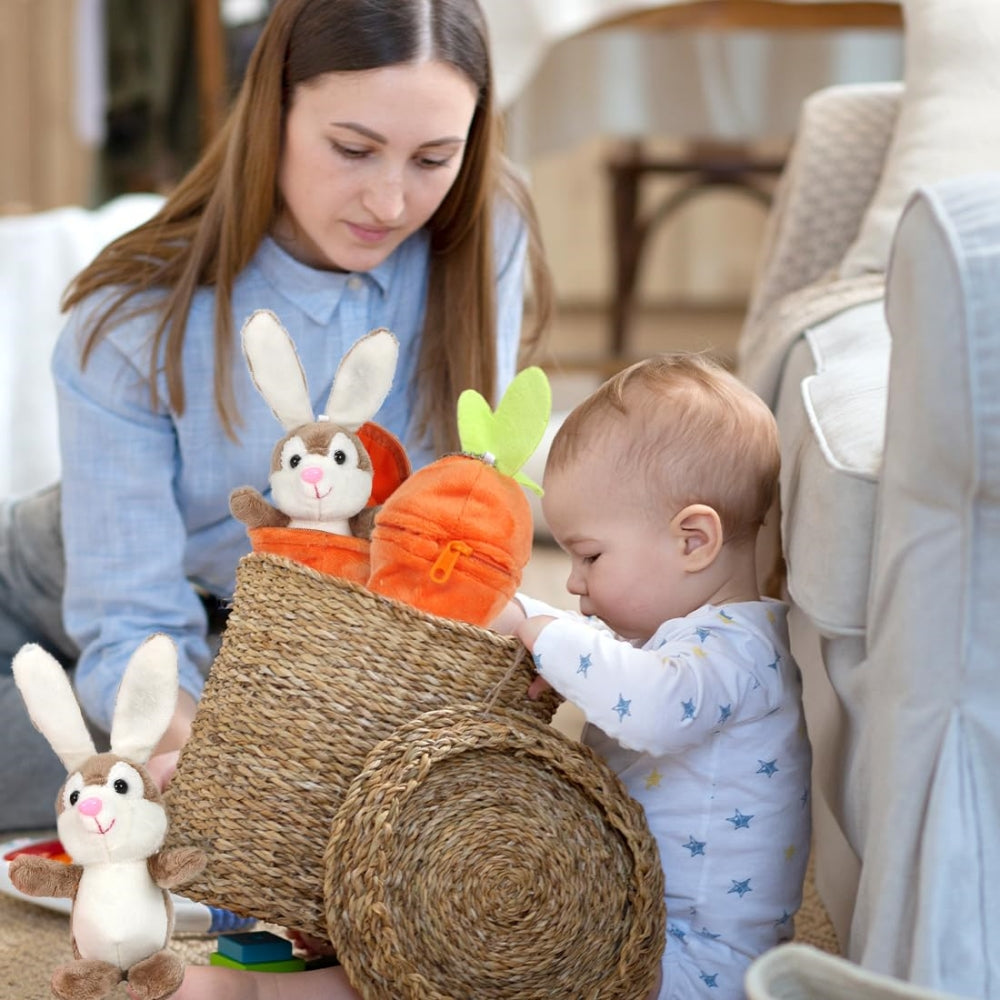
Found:
[[[541,443],[551,413],[552,389],[541,368],[519,372],[496,411],[475,389],[466,389],[458,397],[462,451],[490,456],[499,472],[541,496],[542,488],[521,467]]]

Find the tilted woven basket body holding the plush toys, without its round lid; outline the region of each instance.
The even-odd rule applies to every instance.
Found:
[[[193,899],[327,937],[324,851],[368,753],[435,709],[494,699],[542,721],[520,645],[253,553],[167,803],[209,856]]]

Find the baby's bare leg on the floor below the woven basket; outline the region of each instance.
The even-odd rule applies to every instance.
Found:
[[[189,965],[175,1000],[361,1000],[339,966],[309,972],[243,972]]]

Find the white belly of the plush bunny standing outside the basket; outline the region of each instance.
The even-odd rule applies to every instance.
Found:
[[[84,958],[129,969],[167,943],[163,890],[145,861],[88,865],[73,904],[73,938]]]

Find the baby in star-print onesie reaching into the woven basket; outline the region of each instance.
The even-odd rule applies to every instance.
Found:
[[[545,468],[585,617],[518,595],[496,623],[645,809],[666,880],[660,998],[742,997],[801,902],[811,754],[787,609],[760,596],[755,559],[778,466],[770,411],[724,369],[633,365],[570,413]]]

